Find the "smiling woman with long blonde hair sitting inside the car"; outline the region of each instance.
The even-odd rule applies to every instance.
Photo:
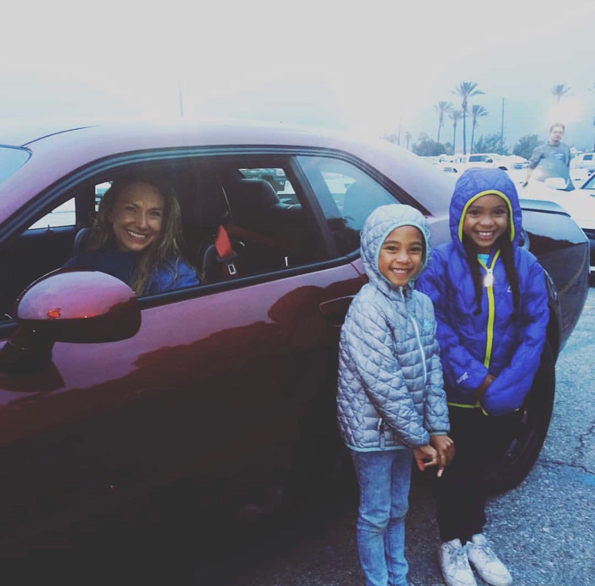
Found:
[[[118,178],[102,197],[93,227],[77,235],[64,268],[107,272],[139,296],[198,285],[179,239],[173,192],[148,178]]]

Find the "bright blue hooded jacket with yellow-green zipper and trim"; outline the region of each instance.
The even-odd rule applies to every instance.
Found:
[[[481,312],[475,314],[477,302],[462,243],[462,224],[468,206],[487,193],[496,193],[508,205],[521,297],[518,316],[514,315],[511,287],[496,249],[491,250],[487,263],[480,261],[484,287]],[[543,268],[533,254],[518,246],[521,221],[518,195],[505,171],[471,168],[456,182],[450,200],[452,242],[434,249],[416,286],[434,303],[449,405],[504,415],[521,407],[533,384],[549,310]],[[487,374],[496,378],[479,403],[474,391]]]

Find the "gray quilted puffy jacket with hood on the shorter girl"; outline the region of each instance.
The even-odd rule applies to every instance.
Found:
[[[378,270],[384,240],[400,225],[425,238],[427,220],[408,205],[381,206],[369,215],[361,256],[369,282],[355,296],[341,329],[337,415],[347,447],[360,452],[417,447],[449,432],[436,321],[431,300],[393,286]],[[421,272],[421,271],[420,271]]]

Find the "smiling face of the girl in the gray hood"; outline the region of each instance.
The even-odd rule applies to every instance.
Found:
[[[390,283],[403,287],[418,274],[424,260],[424,236],[415,226],[399,226],[386,237],[378,270]]]

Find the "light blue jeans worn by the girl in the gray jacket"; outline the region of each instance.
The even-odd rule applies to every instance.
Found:
[[[351,450],[351,457],[359,484],[358,551],[366,586],[405,586],[411,451]]]

